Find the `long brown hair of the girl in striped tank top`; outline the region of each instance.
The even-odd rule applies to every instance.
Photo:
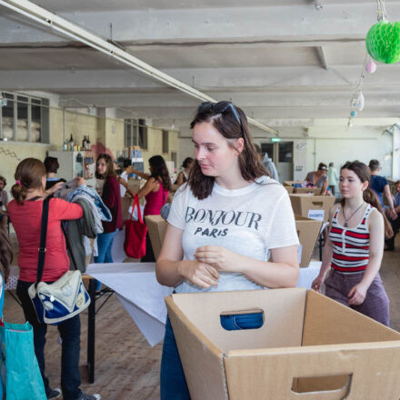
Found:
[[[386,218],[385,212],[382,208],[381,202],[379,201],[379,197],[376,195],[374,190],[370,188],[371,185],[371,171],[369,170],[369,167],[366,166],[364,163],[361,161],[355,160],[355,161],[347,161],[345,165],[340,168],[340,171],[343,169],[348,169],[350,171],[353,171],[355,175],[358,176],[360,181],[362,183],[368,182],[368,187],[365,189],[363,192],[363,199],[365,203],[369,203],[370,205],[373,205],[379,213],[381,213],[384,216],[384,223],[385,223],[385,235],[387,237],[392,237],[393,236],[393,229],[392,225],[390,225],[389,221]],[[344,206],[345,205],[345,199],[342,199],[341,204]]]

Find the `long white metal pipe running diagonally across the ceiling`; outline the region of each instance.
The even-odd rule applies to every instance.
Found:
[[[217,102],[215,98],[205,95],[205,93],[200,92],[194,87],[186,85],[178,79],[175,79],[173,76],[167,75],[153,66],[146,64],[134,55],[130,55],[118,46],[108,43],[105,39],[66,21],[64,18],[55,15],[28,0],[0,0],[0,5],[4,5],[6,8],[15,11],[15,13],[24,15],[26,18],[34,20],[41,25],[45,25],[50,29],[54,29],[62,35],[95,48],[95,50],[102,52],[105,55],[112,56],[121,63],[129,65],[165,85],[175,87],[175,89],[180,90],[186,95],[190,95],[201,101]],[[275,131],[275,129],[256,121],[254,118],[247,117],[247,120],[251,125],[255,125],[270,134],[278,135],[278,132]]]

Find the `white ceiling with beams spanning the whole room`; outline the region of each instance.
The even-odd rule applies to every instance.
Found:
[[[321,11],[312,0],[34,3],[280,130],[348,117],[376,22],[374,0],[321,0]],[[389,19],[400,20],[400,1],[385,4]],[[116,107],[175,126],[187,125],[199,103],[3,5],[0,89],[50,92],[71,107]],[[400,65],[366,74],[363,92],[359,116],[399,116]]]

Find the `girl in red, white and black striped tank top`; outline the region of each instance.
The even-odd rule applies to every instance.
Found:
[[[321,271],[312,288],[389,325],[389,299],[379,275],[385,235],[393,235],[379,199],[369,188],[369,168],[359,161],[347,162],[340,171],[341,205],[330,211],[330,230]],[[325,280],[327,272],[329,276]]]

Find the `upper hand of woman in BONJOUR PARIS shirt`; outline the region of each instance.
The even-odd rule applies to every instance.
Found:
[[[238,258],[239,255],[219,245],[204,245],[198,247],[195,251],[195,259],[197,261],[213,265],[217,269],[229,272],[241,272],[239,268],[235,266]]]

